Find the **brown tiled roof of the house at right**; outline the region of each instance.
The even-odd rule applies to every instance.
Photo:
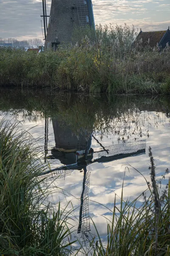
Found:
[[[150,31],[150,32],[142,32],[142,30],[139,32],[139,35],[136,38],[136,41],[139,41],[142,39],[141,46],[145,47],[147,45],[150,45],[150,47],[156,47],[157,43],[161,43],[161,39],[165,35],[167,30],[163,31]],[[149,44],[148,44],[149,40]]]

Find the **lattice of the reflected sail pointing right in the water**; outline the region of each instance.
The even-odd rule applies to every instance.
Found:
[[[132,153],[137,153],[140,150],[144,150],[145,148],[146,148],[146,140],[113,144],[111,146],[105,147],[105,151],[102,150],[101,148],[101,150],[98,152],[98,157],[132,154]]]

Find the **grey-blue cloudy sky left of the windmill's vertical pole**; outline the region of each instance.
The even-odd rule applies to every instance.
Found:
[[[40,3],[34,0],[0,0],[0,9],[1,37],[41,36]]]

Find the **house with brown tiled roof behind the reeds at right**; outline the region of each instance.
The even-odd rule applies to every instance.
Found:
[[[134,42],[134,46],[138,44],[142,48],[147,46],[150,46],[151,48],[165,48],[167,43],[170,46],[170,27],[163,31],[143,32],[140,30],[139,35]]]

